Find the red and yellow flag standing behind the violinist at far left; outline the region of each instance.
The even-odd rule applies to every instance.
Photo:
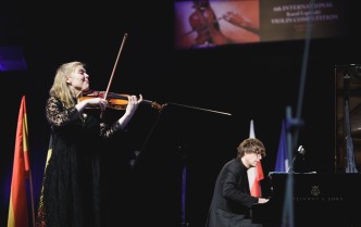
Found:
[[[8,227],[28,227],[26,179],[29,177],[30,166],[27,138],[26,105],[23,96],[17,118]]]

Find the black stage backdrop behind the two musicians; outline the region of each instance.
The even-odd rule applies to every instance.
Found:
[[[2,42],[23,47],[28,70],[0,75],[0,226],[8,219],[22,96],[26,96],[37,206],[49,142],[45,101],[57,67],[83,61],[92,89],[105,90],[125,33],[128,37],[110,90],[142,93],[167,105],[161,112],[140,106],[128,135],[115,138],[104,151],[109,226],[126,222],[179,226],[185,165],[186,222],[203,226],[216,174],[249,137],[251,119],[256,137],[267,149],[264,174],[274,171],[287,106],[294,116],[301,106],[304,125],[297,143],[308,150],[307,168],[335,172],[335,65],[361,61],[354,4],[349,1],[350,33],[311,40],[308,52],[304,40],[174,50],[173,2],[166,1],[7,2],[1,7],[2,26],[14,35]],[[307,66],[304,90],[300,90],[302,65]],[[110,111],[109,115],[121,114]],[[140,155],[132,168],[135,151]]]

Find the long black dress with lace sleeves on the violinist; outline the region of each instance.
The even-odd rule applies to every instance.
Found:
[[[46,103],[51,126],[51,157],[42,181],[36,226],[100,227],[102,178],[100,152],[104,140],[121,130],[101,123],[99,111],[80,114],[55,97]]]

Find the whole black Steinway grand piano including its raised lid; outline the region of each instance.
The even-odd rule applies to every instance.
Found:
[[[361,64],[335,66],[335,126],[334,173],[271,173],[271,199],[252,206],[253,223],[361,227]]]

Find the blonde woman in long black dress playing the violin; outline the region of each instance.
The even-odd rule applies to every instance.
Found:
[[[128,96],[124,114],[112,125],[87,108],[105,110],[103,98],[78,100],[89,90],[89,75],[82,62],[62,64],[46,102],[51,128],[51,156],[46,165],[36,226],[103,226],[99,154],[107,138],[125,130],[142,101]]]

